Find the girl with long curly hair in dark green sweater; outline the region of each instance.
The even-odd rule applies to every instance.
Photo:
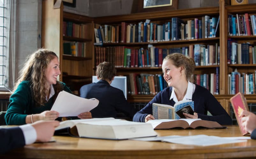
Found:
[[[57,81],[60,74],[60,63],[54,52],[39,49],[31,54],[10,97],[4,116],[6,124],[23,125],[37,120],[57,119],[59,113],[50,111],[57,95],[62,90],[72,93],[65,83]],[[84,112],[77,117],[91,118],[91,113]]]

